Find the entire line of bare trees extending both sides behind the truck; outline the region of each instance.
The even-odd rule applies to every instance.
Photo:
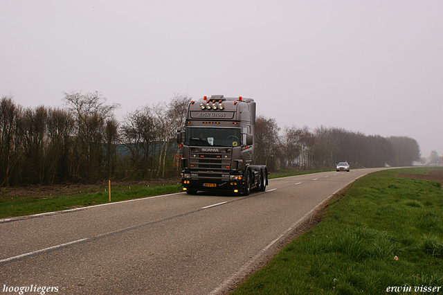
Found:
[[[190,98],[129,111],[119,122],[98,92],[64,93],[65,107],[24,108],[12,96],[0,100],[0,186],[91,183],[105,179],[177,177],[181,172],[177,128]],[[282,131],[282,132],[280,132]],[[255,162],[271,169],[410,166],[419,145],[404,136],[366,136],[337,127],[284,127],[257,116]]]

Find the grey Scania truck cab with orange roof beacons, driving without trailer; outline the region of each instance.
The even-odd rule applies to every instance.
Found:
[[[185,126],[177,129],[182,148],[181,185],[199,190],[249,195],[268,185],[266,165],[253,165],[255,102],[252,98],[204,96],[191,100]]]

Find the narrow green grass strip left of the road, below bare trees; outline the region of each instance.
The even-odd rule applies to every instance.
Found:
[[[106,190],[106,191],[105,191]],[[128,199],[138,199],[154,195],[164,195],[181,191],[181,185],[168,184],[158,186],[134,186],[111,188],[111,202],[120,202]],[[109,191],[102,187],[100,191],[79,191],[71,195],[60,197],[34,198],[21,195],[18,197],[0,197],[0,218],[31,215],[53,211],[62,211],[82,206],[92,206],[109,202]]]

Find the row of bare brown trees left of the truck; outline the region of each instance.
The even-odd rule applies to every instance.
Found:
[[[0,186],[175,177],[172,145],[190,99],[175,96],[116,120],[99,93],[64,93],[64,108],[0,101]],[[172,166],[175,166],[172,169]]]

